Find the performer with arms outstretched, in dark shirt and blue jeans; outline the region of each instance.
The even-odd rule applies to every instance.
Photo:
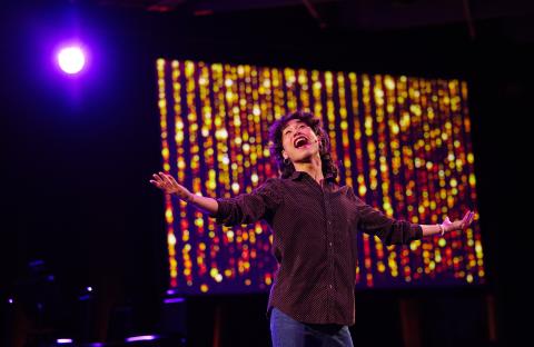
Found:
[[[357,230],[385,245],[408,245],[432,235],[463,230],[462,220],[417,225],[388,218],[366,205],[349,186],[337,185],[338,169],[319,118],[303,111],[276,120],[270,153],[279,177],[250,194],[210,198],[192,194],[168,174],[150,182],[216,218],[236,226],[265,220],[273,229],[273,254],[279,265],[267,313],[274,347],[353,346]]]

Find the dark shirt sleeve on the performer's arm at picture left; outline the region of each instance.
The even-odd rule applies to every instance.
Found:
[[[250,194],[241,194],[234,198],[217,198],[218,209],[209,217],[218,225],[227,227],[251,224],[267,214],[274,214],[283,201],[283,195],[276,178],[267,179]]]

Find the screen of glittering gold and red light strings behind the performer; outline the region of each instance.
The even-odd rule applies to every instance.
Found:
[[[436,224],[476,208],[467,86],[459,80],[200,61],[157,61],[164,169],[197,194],[233,197],[277,176],[268,127],[303,109],[323,118],[339,181],[386,215]],[[265,222],[221,227],[166,198],[170,288],[264,291],[276,262]],[[384,246],[358,234],[357,287],[484,281],[478,224]]]

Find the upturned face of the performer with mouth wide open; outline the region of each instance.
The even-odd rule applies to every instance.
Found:
[[[308,162],[319,153],[319,138],[308,125],[299,119],[291,119],[281,130],[284,159],[293,162]]]

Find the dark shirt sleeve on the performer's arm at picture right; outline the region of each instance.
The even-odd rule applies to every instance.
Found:
[[[423,229],[419,225],[389,218],[356,197],[352,189],[350,192],[358,214],[358,230],[377,236],[385,245],[408,245],[413,240],[423,238]]]

